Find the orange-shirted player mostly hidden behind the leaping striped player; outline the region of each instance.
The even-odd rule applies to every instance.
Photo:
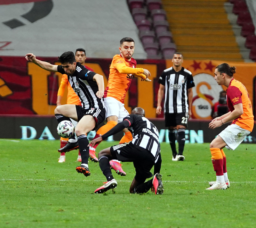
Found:
[[[94,70],[92,70],[92,68],[85,65],[86,54],[85,54],[84,48],[77,48],[75,57],[76,57],[76,62],[81,63],[81,65],[85,66],[88,70],[94,71]],[[57,102],[56,102],[57,106],[61,105],[61,99],[63,97],[66,86],[68,86],[67,104],[81,106],[81,101],[80,101],[79,97],[76,95],[76,93],[74,92],[71,85],[69,84],[68,76],[66,74],[63,74],[62,78],[61,78],[61,83],[60,83],[60,87],[59,87],[58,95],[57,95]],[[76,126],[77,122],[74,120],[72,120],[72,122]],[[75,134],[73,136],[71,136],[69,139],[64,139],[64,138],[60,137],[60,149],[58,150],[60,152],[60,158],[59,158],[58,162],[59,163],[65,162],[65,160],[66,160],[65,153],[67,151],[71,151],[74,149],[78,149],[78,143],[77,143]],[[78,151],[78,157],[77,157],[76,161],[79,161],[79,162],[82,161],[80,151]]]

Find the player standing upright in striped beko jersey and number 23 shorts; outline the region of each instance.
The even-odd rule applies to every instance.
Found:
[[[185,145],[185,129],[191,117],[193,99],[192,87],[195,86],[192,73],[182,67],[183,56],[176,52],[172,58],[172,67],[163,71],[159,77],[156,113],[161,114],[161,102],[164,99],[165,127],[169,128],[169,141],[172,149],[172,161],[183,161]],[[179,153],[176,151],[176,129]]]

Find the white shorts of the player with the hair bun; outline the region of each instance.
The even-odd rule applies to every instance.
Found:
[[[245,136],[249,135],[250,133],[251,131],[245,130],[236,124],[231,124],[221,131],[219,136],[224,140],[230,149],[235,150],[236,147],[243,142]]]

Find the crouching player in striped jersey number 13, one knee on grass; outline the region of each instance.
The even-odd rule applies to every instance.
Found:
[[[95,190],[95,193],[103,193],[116,187],[117,182],[112,176],[109,161],[118,159],[122,162],[133,162],[136,175],[130,187],[130,193],[145,193],[150,188],[155,194],[163,194],[161,169],[161,153],[159,134],[156,126],[145,118],[145,111],[137,107],[132,110],[132,114],[124,117],[114,128],[106,134],[92,140],[90,145],[108,138],[111,135],[128,128],[133,135],[129,143],[111,146],[99,152],[98,159],[100,169],[107,178],[107,183]],[[153,176],[150,172],[154,166],[154,177],[145,182],[147,178]]]

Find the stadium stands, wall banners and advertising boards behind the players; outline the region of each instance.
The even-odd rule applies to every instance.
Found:
[[[155,5],[151,4],[154,2]],[[207,1],[201,3],[200,7],[203,7],[205,2]],[[151,83],[145,83],[133,77],[125,98],[125,107],[129,112],[137,106],[144,108],[146,117],[156,121],[159,130],[165,132],[163,114],[156,115],[155,111],[159,87],[157,79],[164,69],[172,66],[169,58],[174,50],[170,49],[169,53],[166,52],[167,49],[163,48],[166,45],[163,45],[164,41],[161,40],[161,36],[157,32],[156,21],[163,19],[169,23],[166,32],[171,32],[172,35],[171,40],[167,39],[165,42],[174,44],[175,50],[183,53],[183,66],[192,72],[196,84],[193,88],[193,120],[190,120],[189,123],[188,142],[210,142],[211,138],[217,134],[215,131],[208,132],[207,129],[211,119],[211,106],[218,101],[219,92],[225,89],[217,85],[213,78],[214,69],[218,64],[227,62],[237,67],[235,78],[246,86],[255,115],[256,63],[252,61],[253,47],[247,48],[251,44],[250,39],[253,40],[255,34],[254,30],[244,34],[247,31],[246,27],[244,29],[244,22],[246,22],[246,26],[250,23],[255,25],[256,5],[250,0],[240,0],[240,5],[238,4],[237,7],[236,2],[216,1],[215,4],[212,4],[213,11],[209,11],[208,18],[203,19],[204,22],[202,22],[204,13],[199,11],[200,18],[196,15],[198,10],[194,9],[198,1],[183,1],[179,4],[183,4],[184,11],[186,11],[186,7],[189,7],[189,13],[192,16],[182,12],[183,17],[177,25],[174,16],[180,11],[180,5],[175,5],[174,1],[167,0],[162,2],[112,0],[105,4],[104,9],[99,7],[102,4],[100,0],[96,2],[75,1],[73,4],[66,0],[0,0],[0,119],[4,123],[5,129],[9,129],[1,133],[0,138],[58,138],[55,132],[57,121],[54,121],[52,116],[56,107],[61,75],[49,73],[33,63],[27,63],[24,58],[27,53],[34,53],[40,60],[59,64],[57,56],[64,51],[85,48],[86,64],[96,73],[104,76],[106,85],[112,57],[118,53],[119,40],[125,36],[130,36],[135,40],[133,57],[137,60],[138,67],[146,68],[151,72],[152,79]],[[246,9],[242,7],[241,2],[246,3]],[[141,26],[140,22],[143,20],[134,10],[138,8],[147,10],[144,15],[146,22],[143,23],[146,25],[149,22],[149,31],[153,31],[155,34],[154,45],[151,45],[151,49],[147,43],[149,40],[146,44],[143,40],[142,34],[148,28]],[[156,13],[158,8],[165,11],[164,18],[161,18],[163,11]],[[212,24],[210,24],[212,12],[216,9],[224,11],[226,18],[215,16],[215,20],[212,19]],[[240,15],[244,11],[251,17],[249,22],[248,19],[242,18],[241,24]],[[70,15],[70,12],[76,13],[73,16],[66,16]],[[139,16],[143,17],[143,13]],[[188,20],[189,17],[191,17],[191,21]],[[218,21],[218,19],[220,20]],[[217,26],[219,30],[216,30],[214,23],[219,23]],[[202,28],[207,30],[205,34],[202,31],[197,31],[198,26],[202,25],[208,26],[207,29]],[[240,34],[237,33],[239,25]],[[193,26],[196,28],[195,30]],[[180,32],[179,29],[182,28],[183,31]],[[197,35],[194,34],[196,32],[198,32]],[[225,34],[224,38],[222,34]],[[165,35],[168,38],[167,33]],[[202,39],[204,40],[202,41]],[[156,55],[154,55],[153,49],[156,44],[158,46]],[[202,45],[200,46],[200,44]],[[255,40],[252,44],[256,44]],[[192,47],[197,50],[191,50]],[[235,50],[238,51],[235,52]],[[64,95],[63,103],[65,103],[65,97]],[[44,132],[46,127],[50,133],[47,130],[46,133]],[[33,129],[37,132],[36,134]],[[196,140],[193,139],[194,133]],[[200,138],[200,136],[202,137]],[[118,139],[120,136],[115,137],[114,139]],[[165,137],[163,137],[163,141],[165,141]],[[244,142],[256,142],[254,132]]]

